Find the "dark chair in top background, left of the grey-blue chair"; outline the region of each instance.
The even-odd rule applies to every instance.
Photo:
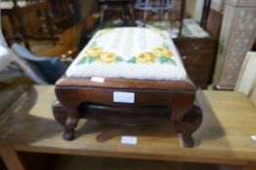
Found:
[[[98,3],[101,8],[101,19],[100,26],[104,26],[105,15],[107,11],[117,12],[114,7],[121,6],[122,7],[122,16],[126,21],[129,16],[134,24],[134,13],[133,13],[133,0],[98,0]]]

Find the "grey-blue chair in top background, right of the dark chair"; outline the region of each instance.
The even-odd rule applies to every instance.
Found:
[[[163,20],[164,13],[168,12],[171,20],[172,0],[137,0],[135,9],[144,12],[144,26],[148,20],[149,12],[159,15],[160,21]]]

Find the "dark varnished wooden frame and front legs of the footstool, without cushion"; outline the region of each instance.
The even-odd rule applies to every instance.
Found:
[[[136,96],[135,102],[133,104],[113,102],[112,95],[116,90],[133,92]],[[86,119],[102,119],[103,116],[99,117],[95,110],[92,111],[92,105],[94,108],[101,108],[105,121],[115,119],[119,124],[148,122],[149,119],[155,118],[155,115],[149,112],[149,108],[154,107],[155,113],[162,112],[162,109],[166,108],[169,112],[165,112],[163,118],[169,117],[165,120],[172,124],[174,131],[183,134],[186,147],[193,146],[192,132],[198,126],[194,124],[196,128],[193,128],[191,123],[191,126],[184,127],[184,117],[188,112],[192,112],[190,109],[195,97],[195,86],[189,79],[186,81],[106,79],[104,84],[99,84],[92,82],[90,78],[64,77],[56,84],[56,95],[67,114],[64,125],[65,140],[73,139],[74,128],[83,115]],[[94,116],[92,112],[96,115]],[[90,117],[86,117],[87,115]],[[193,130],[188,129],[190,127]]]

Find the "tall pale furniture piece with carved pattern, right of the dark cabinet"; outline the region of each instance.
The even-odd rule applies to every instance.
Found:
[[[251,50],[256,39],[256,1],[224,2],[214,85],[220,89],[234,89],[246,52]]]

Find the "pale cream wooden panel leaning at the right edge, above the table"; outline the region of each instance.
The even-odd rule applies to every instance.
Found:
[[[256,105],[256,52],[249,51],[244,59],[235,91],[242,92]]]

